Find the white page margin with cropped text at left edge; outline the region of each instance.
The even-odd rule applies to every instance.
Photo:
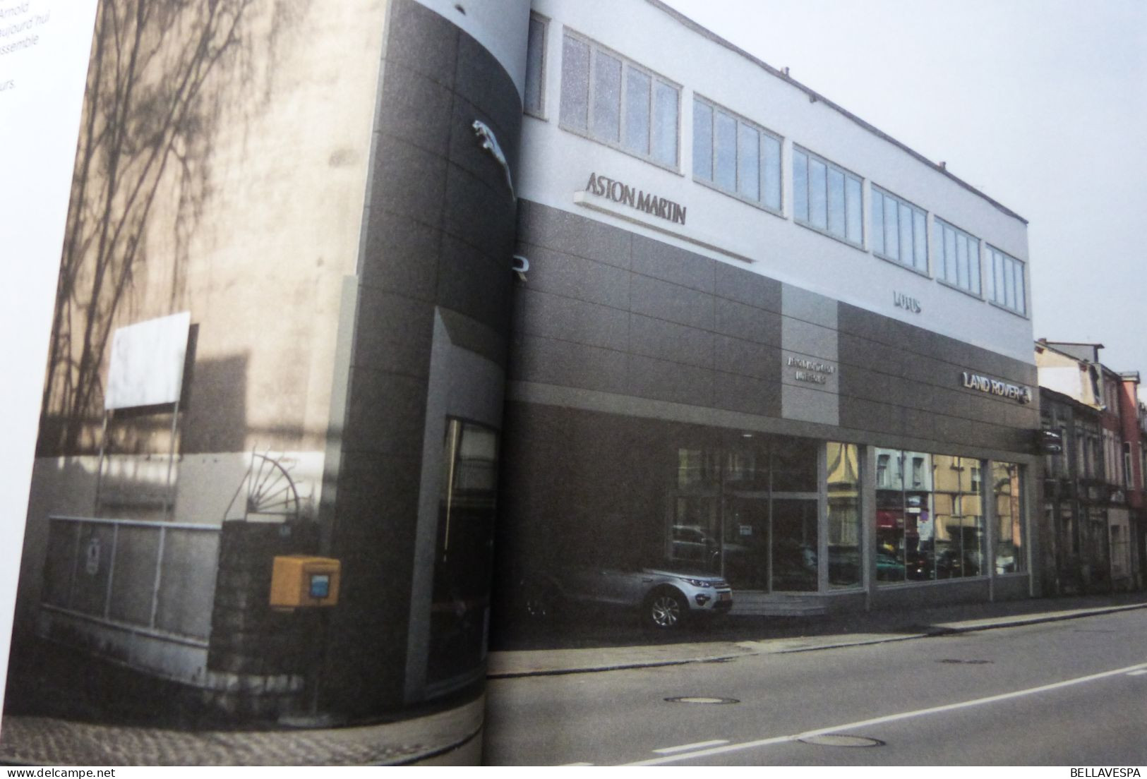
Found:
[[[0,699],[95,5],[0,2]]]

